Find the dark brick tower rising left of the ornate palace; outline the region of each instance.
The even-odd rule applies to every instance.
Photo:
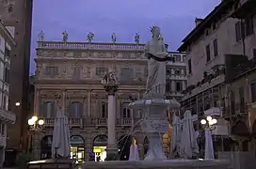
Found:
[[[11,27],[17,43],[12,48],[10,65],[9,110],[17,116],[16,123],[8,127],[8,149],[21,150],[26,145],[27,94],[29,88],[30,38],[32,0],[0,0],[0,20]],[[20,106],[15,103],[20,102]],[[8,154],[7,154],[8,155]],[[15,159],[15,158],[9,158]]]

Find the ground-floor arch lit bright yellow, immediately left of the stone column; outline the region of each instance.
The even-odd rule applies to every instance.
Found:
[[[93,147],[91,154],[91,159],[94,159],[94,161],[104,161],[106,158],[106,151],[105,148],[107,146],[107,136],[104,134],[97,135],[93,139]]]

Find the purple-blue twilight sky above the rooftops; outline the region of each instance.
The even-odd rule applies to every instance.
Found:
[[[95,42],[134,42],[151,38],[149,27],[161,27],[168,50],[175,51],[194,28],[196,17],[204,18],[221,0],[36,0],[33,7],[30,74],[35,71],[35,48],[40,30],[45,40],[86,41],[93,32]]]

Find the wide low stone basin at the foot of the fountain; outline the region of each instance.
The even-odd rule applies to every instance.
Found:
[[[87,161],[83,169],[227,169],[229,161],[222,160],[166,160],[166,161]]]

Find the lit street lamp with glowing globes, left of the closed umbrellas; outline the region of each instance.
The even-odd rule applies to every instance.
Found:
[[[35,138],[35,133],[40,132],[42,130],[42,125],[44,124],[43,119],[39,119],[38,116],[34,115],[31,118],[28,119],[27,124],[29,126],[29,131],[33,132],[34,138]],[[30,148],[29,152],[32,152],[33,148],[33,137],[32,134],[30,134]]]

